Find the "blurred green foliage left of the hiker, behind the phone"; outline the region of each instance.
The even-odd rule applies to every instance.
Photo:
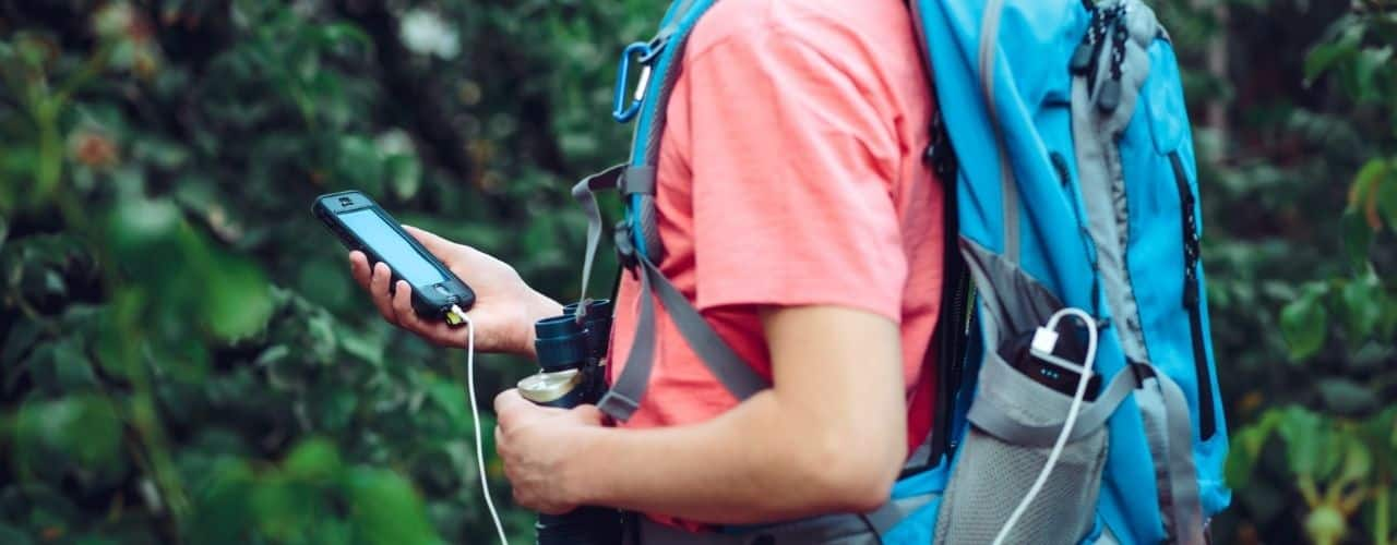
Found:
[[[381,323],[309,204],[574,295],[566,187],[624,145],[610,67],[658,8],[0,3],[0,542],[492,537],[464,354]],[[486,400],[528,372],[482,360]]]

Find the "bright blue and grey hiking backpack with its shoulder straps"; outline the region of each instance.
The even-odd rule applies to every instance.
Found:
[[[673,1],[657,36],[626,49],[613,116],[636,123],[630,160],[573,190],[591,220],[584,287],[601,238],[591,192],[624,195],[613,238],[641,280],[641,311],[599,403],[622,421],[648,383],[655,298],[738,399],[768,386],[655,266],[665,106],[689,32],[714,1]],[[1228,438],[1193,141],[1166,32],[1139,0],[908,8],[939,100],[926,156],[947,192],[932,433],[873,513],[703,541],[652,528],[643,542],[1207,542],[1210,517],[1231,499]],[[1067,315],[1081,323],[1059,322]]]

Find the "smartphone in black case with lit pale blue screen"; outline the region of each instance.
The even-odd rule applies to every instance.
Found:
[[[388,265],[393,270],[390,290],[397,289],[398,280],[407,280],[412,286],[412,309],[419,316],[460,325],[451,307],[467,311],[475,304],[475,291],[404,231],[369,195],[359,191],[320,195],[310,209],[345,248],[367,255],[370,266],[379,262]]]

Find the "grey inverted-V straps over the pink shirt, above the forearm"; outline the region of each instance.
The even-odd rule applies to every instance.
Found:
[[[636,340],[626,357],[626,367],[622,369],[616,385],[602,397],[598,408],[612,418],[626,421],[640,407],[650,387],[650,372],[655,365],[655,297],[665,307],[669,319],[679,329],[679,335],[694,351],[694,355],[714,378],[728,389],[739,401],[752,394],[770,387],[770,382],[757,375],[746,361],[732,351],[708,321],[694,309],[675,284],[665,279],[665,275],[655,268],[645,256],[637,256],[640,275],[640,321],[636,325]]]

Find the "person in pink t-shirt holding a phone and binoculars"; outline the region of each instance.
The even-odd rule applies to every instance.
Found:
[[[738,403],[664,318],[634,417],[496,399],[515,500],[647,513],[700,531],[888,498],[932,422],[925,367],[942,283],[942,191],[923,164],[933,113],[898,0],[724,0],[685,50],[661,141],[661,270],[773,387]],[[469,283],[482,350],[529,353],[560,305],[506,263],[409,230]],[[352,254],[384,318],[443,346],[409,287]],[[626,360],[638,283],[617,294],[612,378]]]

